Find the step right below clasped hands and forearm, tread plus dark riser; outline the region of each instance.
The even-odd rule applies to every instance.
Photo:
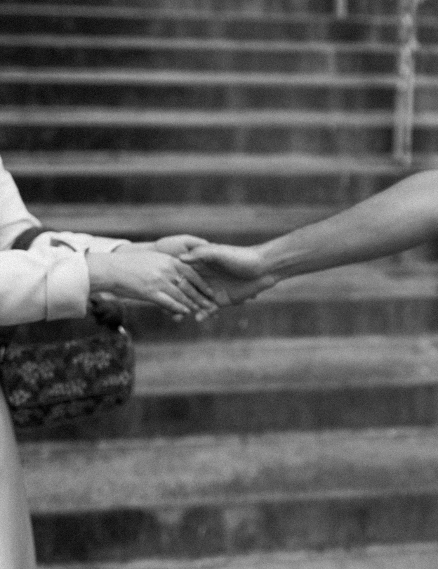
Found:
[[[158,310],[129,303],[127,325],[142,341],[433,333],[436,276],[414,266],[353,265],[284,281],[254,301],[197,323],[173,323]],[[401,271],[401,273],[400,273]]]

